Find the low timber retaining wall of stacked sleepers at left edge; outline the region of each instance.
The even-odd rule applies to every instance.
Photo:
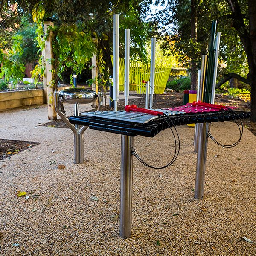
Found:
[[[44,90],[22,90],[0,93],[0,111],[22,106],[39,105],[44,103]]]

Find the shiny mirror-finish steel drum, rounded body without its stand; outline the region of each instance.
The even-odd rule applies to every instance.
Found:
[[[86,104],[96,100],[98,94],[93,90],[69,88],[59,91],[59,100],[66,103]]]

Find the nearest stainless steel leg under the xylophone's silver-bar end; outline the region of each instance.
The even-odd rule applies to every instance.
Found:
[[[120,186],[120,234],[126,239],[131,236],[131,215],[132,215],[132,171],[133,156],[132,136],[121,136],[121,186]]]

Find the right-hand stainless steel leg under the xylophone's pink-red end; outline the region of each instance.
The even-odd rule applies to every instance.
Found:
[[[209,123],[199,124],[198,155],[195,176],[195,198],[203,199]]]

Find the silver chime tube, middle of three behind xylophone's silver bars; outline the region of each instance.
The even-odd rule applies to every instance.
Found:
[[[130,71],[130,29],[125,29],[125,105],[128,105]]]

